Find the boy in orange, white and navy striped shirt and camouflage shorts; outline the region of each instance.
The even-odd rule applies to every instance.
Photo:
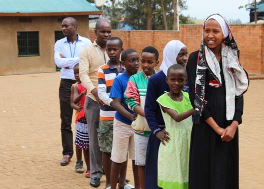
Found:
[[[112,99],[109,98],[109,94],[114,78],[125,71],[119,61],[122,51],[121,39],[118,37],[110,37],[106,42],[106,52],[109,61],[98,68],[98,97],[104,105],[100,106],[97,137],[98,145],[102,152],[102,165],[106,178],[105,188],[110,187],[110,157],[112,150],[113,118],[115,114],[115,110],[111,106]]]

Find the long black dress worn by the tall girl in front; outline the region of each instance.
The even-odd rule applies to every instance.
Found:
[[[189,81],[189,98],[194,107],[194,87],[198,51],[189,55],[186,66]],[[190,142],[189,189],[238,189],[238,129],[230,142],[222,142],[211,127],[204,121],[212,117],[222,128],[233,120],[242,122],[243,97],[235,99],[233,120],[226,120],[225,82],[220,60],[222,85],[214,88],[208,85],[213,79],[206,72],[205,100],[199,124],[193,124]]]

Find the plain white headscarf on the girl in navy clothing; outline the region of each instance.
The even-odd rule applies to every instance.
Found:
[[[177,64],[176,57],[182,47],[186,47],[186,46],[179,40],[171,40],[164,47],[163,60],[159,67],[159,70],[162,70],[166,76],[167,76],[167,69],[171,65]]]

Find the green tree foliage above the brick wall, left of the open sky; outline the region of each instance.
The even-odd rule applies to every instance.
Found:
[[[95,0],[87,0],[94,4]],[[163,30],[164,21],[160,0],[151,0],[152,5],[152,29]],[[173,27],[173,0],[163,0],[166,14],[167,26],[171,30]],[[101,7],[100,7],[101,8]],[[186,0],[178,0],[178,9],[186,10]],[[103,16],[108,18],[113,29],[122,28],[120,21],[129,25],[132,29],[147,28],[147,0],[108,0],[103,5]],[[194,23],[189,16],[179,14],[179,23]]]

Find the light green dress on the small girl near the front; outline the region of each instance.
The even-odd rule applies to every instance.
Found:
[[[182,92],[180,102],[172,100],[164,93],[156,100],[159,105],[175,110],[178,114],[192,108],[189,95]],[[191,116],[176,122],[167,113],[162,112],[165,129],[170,141],[163,146],[160,143],[157,161],[158,186],[162,189],[188,189],[188,165],[190,133],[192,128]]]

